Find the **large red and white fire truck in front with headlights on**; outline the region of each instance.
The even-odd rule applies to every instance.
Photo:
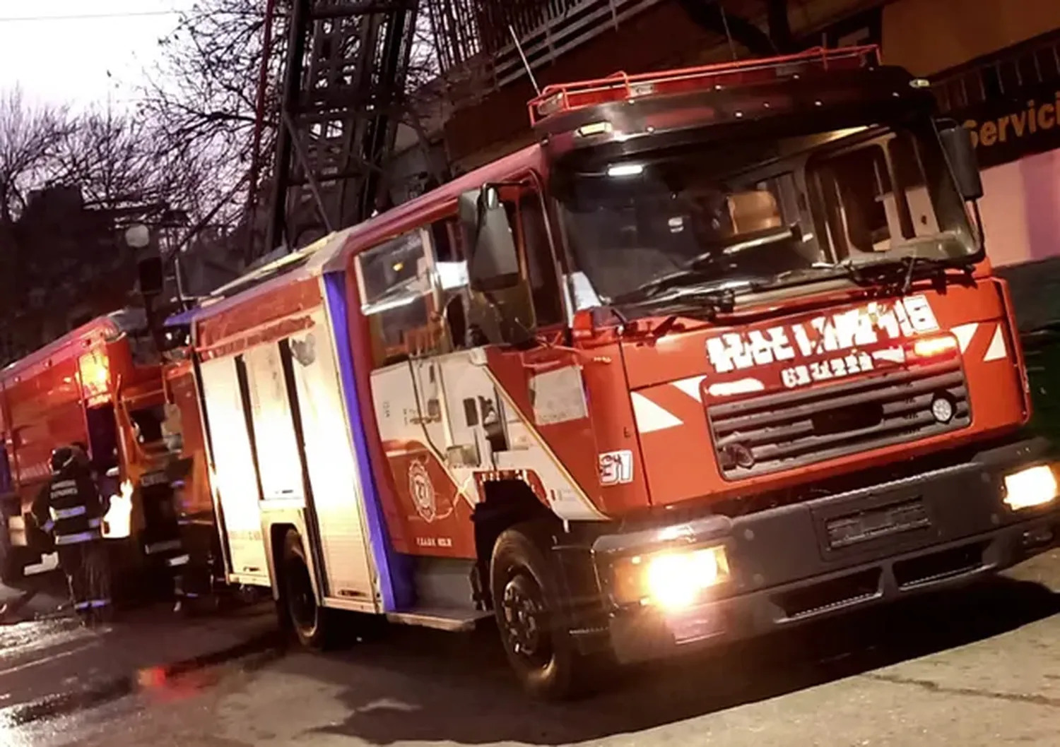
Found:
[[[550,87],[535,145],[219,289],[181,323],[229,580],[310,645],[493,616],[563,696],[1050,546],[933,111],[868,48]]]

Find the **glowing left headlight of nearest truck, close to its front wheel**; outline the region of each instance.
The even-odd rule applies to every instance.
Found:
[[[728,557],[720,546],[635,555],[616,564],[615,597],[619,603],[682,609],[728,576]]]

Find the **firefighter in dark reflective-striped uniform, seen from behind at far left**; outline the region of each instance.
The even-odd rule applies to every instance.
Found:
[[[102,532],[106,506],[80,447],[55,449],[51,466],[52,478],[34,501],[33,516],[55,541],[73,608],[83,623],[106,620],[111,612],[110,568]]]

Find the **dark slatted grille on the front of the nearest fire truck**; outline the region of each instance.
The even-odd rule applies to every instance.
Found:
[[[932,412],[938,397],[951,405],[949,421]],[[971,407],[952,360],[712,405],[707,420],[722,476],[738,480],[965,428]]]

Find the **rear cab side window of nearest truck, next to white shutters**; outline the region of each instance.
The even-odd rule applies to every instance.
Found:
[[[369,320],[376,368],[440,348],[426,233],[416,229],[357,257],[361,312]]]

